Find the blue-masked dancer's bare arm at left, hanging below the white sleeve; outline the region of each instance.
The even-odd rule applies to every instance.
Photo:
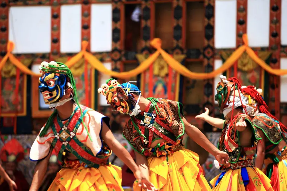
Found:
[[[47,172],[49,159],[51,157],[52,151],[53,149],[51,148],[48,156],[36,164],[36,167],[34,170],[35,171],[34,177],[33,177],[32,184],[31,184],[29,191],[37,191],[39,187],[41,186],[41,183],[43,182],[43,178]]]

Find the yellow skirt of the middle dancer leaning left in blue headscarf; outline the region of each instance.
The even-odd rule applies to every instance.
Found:
[[[150,181],[160,191],[211,191],[196,153],[182,149],[172,155],[149,157]],[[143,191],[134,182],[134,191]]]

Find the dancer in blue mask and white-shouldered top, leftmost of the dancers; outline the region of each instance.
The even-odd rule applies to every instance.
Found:
[[[62,169],[48,190],[123,191],[121,168],[111,165],[112,150],[149,188],[128,151],[109,129],[109,118],[79,105],[71,70],[60,62],[42,62],[39,89],[44,101],[54,108],[30,150],[30,160],[37,161],[30,191],[39,189],[53,149]]]

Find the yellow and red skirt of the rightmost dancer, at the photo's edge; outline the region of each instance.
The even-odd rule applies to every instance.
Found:
[[[266,168],[262,170],[266,174]],[[287,160],[273,164],[271,185],[274,191],[287,191]]]

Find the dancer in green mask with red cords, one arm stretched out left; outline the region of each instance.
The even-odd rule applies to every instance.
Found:
[[[207,108],[205,113],[196,116],[222,129],[218,149],[229,155],[230,167],[216,164],[223,172],[210,182],[213,190],[273,190],[270,179],[253,164],[257,144],[262,140],[252,119],[243,112],[246,111],[247,101],[241,84],[236,78],[227,80],[225,76],[220,76],[216,90],[215,100],[225,120],[210,117]]]

